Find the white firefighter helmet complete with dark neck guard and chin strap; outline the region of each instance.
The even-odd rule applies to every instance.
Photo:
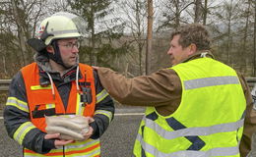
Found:
[[[29,39],[28,44],[35,51],[46,55],[63,67],[69,68],[63,63],[58,44],[55,41],[62,38],[85,36],[86,22],[74,14],[59,12],[43,20],[36,32],[36,38]],[[54,53],[47,53],[45,49],[50,44],[54,48]]]

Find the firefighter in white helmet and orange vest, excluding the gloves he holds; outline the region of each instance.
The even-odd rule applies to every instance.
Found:
[[[25,157],[100,155],[99,137],[113,119],[114,104],[96,71],[79,63],[84,26],[74,14],[56,13],[43,20],[38,37],[28,41],[36,50],[34,62],[12,79],[4,111],[6,130],[23,146]],[[45,132],[45,116],[75,115],[89,123],[84,140]]]

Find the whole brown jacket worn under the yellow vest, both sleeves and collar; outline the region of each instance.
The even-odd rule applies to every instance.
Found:
[[[197,53],[183,62],[200,57]],[[209,53],[207,57],[214,56]],[[150,76],[125,78],[107,68],[98,68],[98,76],[103,87],[117,101],[124,105],[154,106],[162,116],[175,112],[181,100],[181,82],[177,74],[170,69],[161,69]],[[256,131],[256,110],[252,108],[250,89],[245,78],[237,73],[246,98],[246,117],[243,136],[240,142],[241,157],[251,150],[252,133]]]

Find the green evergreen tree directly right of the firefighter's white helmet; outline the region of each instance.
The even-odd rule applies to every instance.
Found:
[[[80,49],[82,62],[114,68],[114,56],[127,52],[127,44],[118,40],[123,36],[124,24],[112,14],[112,3],[112,0],[68,0],[72,10],[88,23],[86,42]]]

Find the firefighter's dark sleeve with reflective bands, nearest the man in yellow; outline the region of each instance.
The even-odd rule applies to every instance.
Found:
[[[95,122],[91,123],[90,126],[94,129],[91,138],[96,139],[106,131],[113,120],[115,108],[112,98],[102,87],[96,71],[94,71],[94,77],[96,83],[96,111],[94,116]]]

